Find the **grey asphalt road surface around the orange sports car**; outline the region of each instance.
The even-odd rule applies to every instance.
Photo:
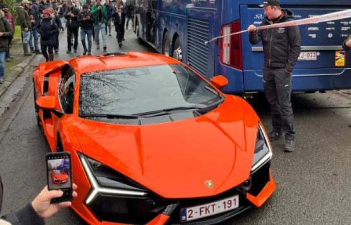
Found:
[[[114,36],[108,51],[118,51]],[[68,59],[66,36],[61,34],[56,58]],[[97,53],[93,44],[93,53]],[[79,45],[79,53],[82,52]],[[126,31],[123,51],[150,51]],[[99,52],[103,53],[102,50]],[[43,60],[36,56],[24,74],[31,74]],[[31,79],[0,118],[0,172],[5,196],[2,214],[30,202],[46,185],[45,153],[49,149],[36,124]],[[1,103],[1,102],[0,102]],[[222,224],[350,224],[351,221],[351,95],[343,91],[298,94],[293,97],[296,150],[283,152],[283,141],[273,142],[272,171],[277,190],[261,208],[253,208]],[[269,109],[262,96],[252,105],[266,128]],[[84,224],[64,209],[47,224]]]

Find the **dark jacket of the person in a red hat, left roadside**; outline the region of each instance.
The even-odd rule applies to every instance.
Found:
[[[45,45],[55,44],[55,35],[59,31],[56,22],[52,18],[43,18],[38,26],[40,43]]]

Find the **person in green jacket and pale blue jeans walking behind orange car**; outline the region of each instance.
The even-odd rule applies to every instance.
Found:
[[[96,49],[100,49],[99,32],[101,31],[102,45],[106,51],[106,24],[107,24],[107,10],[105,5],[101,4],[101,0],[96,0],[96,4],[91,7],[91,12],[94,18],[95,41]]]

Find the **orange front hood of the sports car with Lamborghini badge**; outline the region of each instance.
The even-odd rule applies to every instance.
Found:
[[[122,125],[80,119],[75,135],[85,155],[167,198],[210,196],[245,181],[259,121],[246,101],[231,95],[216,109],[179,121]]]

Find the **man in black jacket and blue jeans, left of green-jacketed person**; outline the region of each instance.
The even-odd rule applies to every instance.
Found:
[[[93,14],[89,11],[89,6],[87,4],[83,4],[83,9],[79,13],[79,22],[80,22],[80,38],[83,45],[83,55],[91,55],[91,36],[93,35],[94,29],[94,19]],[[88,49],[85,44],[85,36],[88,38]]]

